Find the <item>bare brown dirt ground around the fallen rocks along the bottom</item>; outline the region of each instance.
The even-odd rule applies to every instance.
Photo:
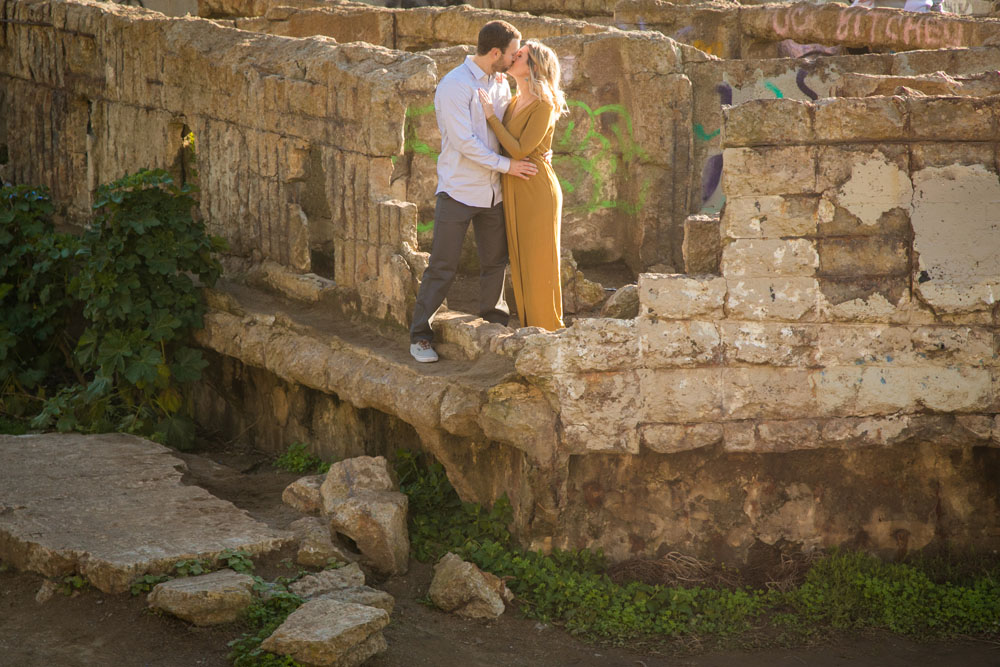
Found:
[[[274,469],[253,452],[213,449],[184,455],[188,481],[233,502],[258,520],[284,528],[299,514],[281,502],[281,491],[297,475]],[[257,574],[273,579],[294,574],[278,553],[257,564]],[[283,562],[284,561],[284,562]],[[749,650],[746,646],[698,647],[667,644],[615,648],[584,643],[557,627],[540,624],[509,609],[500,619],[473,622],[428,607],[432,568],[411,562],[406,576],[370,581],[396,599],[385,629],[389,648],[370,667],[528,667],[622,665],[634,667],[997,667],[1000,643],[951,641],[917,643],[891,635],[856,634],[822,645]],[[197,628],[151,613],[145,596],[107,595],[88,589],[45,602],[36,594],[45,579],[31,573],[0,572],[0,667],[115,665],[189,667],[228,665],[226,643],[241,634],[238,624]],[[745,641],[745,640],[744,640]]]

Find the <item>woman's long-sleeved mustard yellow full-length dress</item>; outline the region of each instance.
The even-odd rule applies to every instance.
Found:
[[[521,326],[555,331],[565,326],[559,282],[562,190],[542,155],[552,147],[556,114],[541,99],[516,109],[518,99],[511,100],[503,123],[496,116],[488,120],[505,155],[512,160],[527,158],[538,167],[528,180],[501,177],[511,282]]]

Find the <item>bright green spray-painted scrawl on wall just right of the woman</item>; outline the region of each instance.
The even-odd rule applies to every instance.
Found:
[[[632,132],[632,117],[620,104],[606,104],[597,109],[591,109],[579,100],[569,100],[570,108],[581,109],[587,115],[586,133],[583,138],[574,143],[573,133],[577,129],[576,122],[566,123],[562,136],[554,147],[557,155],[552,158],[553,164],[569,162],[573,168],[568,171],[575,173],[575,178],[559,177],[563,191],[573,193],[589,185],[590,195],[587,201],[578,206],[570,207],[569,211],[593,213],[601,209],[619,209],[629,215],[635,215],[645,205],[649,193],[649,181],[644,181],[639,187],[638,201],[612,201],[601,198],[605,174],[614,175],[622,167],[634,160],[648,159],[642,148],[635,142]],[[611,140],[597,131],[597,121],[602,114],[613,113],[618,119],[611,123],[611,133],[617,142],[618,152],[613,150]],[[597,152],[593,148],[596,145]],[[588,183],[589,181],[589,183]]]

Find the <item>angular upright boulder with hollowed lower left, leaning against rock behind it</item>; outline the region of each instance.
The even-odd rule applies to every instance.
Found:
[[[402,574],[410,561],[407,502],[397,491],[358,491],[329,508],[330,530],[354,540],[377,572]]]

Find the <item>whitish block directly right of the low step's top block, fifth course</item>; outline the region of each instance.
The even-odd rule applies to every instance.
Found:
[[[747,278],[727,284],[726,308],[734,319],[802,320],[814,317],[819,304],[813,278]]]

